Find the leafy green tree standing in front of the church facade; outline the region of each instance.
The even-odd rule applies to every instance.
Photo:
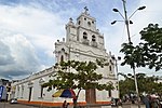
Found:
[[[59,65],[56,65],[57,71],[53,76],[54,79],[44,83],[44,87],[62,90],[62,89],[78,89],[77,100],[81,90],[97,89],[102,90],[113,90],[111,83],[99,83],[99,80],[103,79],[103,76],[99,75],[99,71],[96,72],[98,67],[104,67],[104,60],[93,62],[78,62],[78,60],[68,60],[62,62]],[[70,70],[72,70],[72,72]],[[75,107],[77,106],[77,100]]]

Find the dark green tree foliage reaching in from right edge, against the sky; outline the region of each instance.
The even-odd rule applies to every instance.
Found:
[[[121,52],[125,54],[122,65],[129,64],[131,67],[162,69],[162,28],[158,24],[149,24],[140,32],[141,42],[134,46],[132,43],[123,43]]]

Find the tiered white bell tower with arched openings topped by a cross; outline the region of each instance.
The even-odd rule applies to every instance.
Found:
[[[78,41],[93,48],[104,49],[104,36],[96,29],[96,19],[89,14],[85,6],[84,12],[77,18]]]

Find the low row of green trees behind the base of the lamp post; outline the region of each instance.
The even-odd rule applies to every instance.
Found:
[[[120,73],[121,75],[121,73]],[[123,96],[124,94],[127,93],[135,93],[135,85],[134,85],[134,76],[131,73],[129,75],[122,75],[124,76],[124,80],[121,80],[119,85],[120,85],[120,95]],[[158,93],[162,94],[162,83],[158,83],[158,77],[151,76],[148,77],[145,73],[137,73],[137,83],[138,83],[138,90],[139,94],[143,93]]]

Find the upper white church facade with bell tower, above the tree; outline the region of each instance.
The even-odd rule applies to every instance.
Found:
[[[104,35],[96,28],[96,19],[85,6],[77,22],[72,18],[66,24],[66,41],[55,43],[56,60],[92,60],[104,58],[109,63],[103,71],[105,77],[114,77],[114,64],[111,53],[107,53]]]

